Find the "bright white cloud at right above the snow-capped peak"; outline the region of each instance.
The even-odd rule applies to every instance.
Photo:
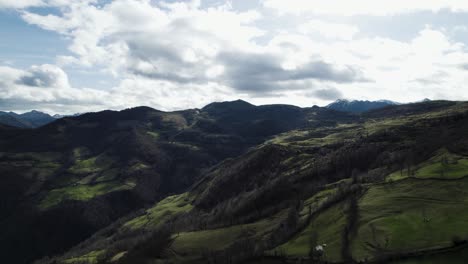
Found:
[[[409,42],[375,38],[352,43],[336,43],[325,47],[324,53],[338,56],[342,50],[360,65],[375,83],[343,89],[347,97],[370,99],[389,98],[409,102],[421,98],[468,99],[464,92],[467,72],[460,65],[468,61],[467,47],[452,41],[441,31],[422,30]]]

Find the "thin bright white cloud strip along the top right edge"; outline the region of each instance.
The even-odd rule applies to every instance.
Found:
[[[264,0],[263,5],[279,13],[325,14],[325,15],[373,15],[385,16],[417,11],[438,12],[449,9],[467,12],[465,0]]]

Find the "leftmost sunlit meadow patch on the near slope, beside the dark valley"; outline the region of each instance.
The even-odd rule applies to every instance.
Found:
[[[190,211],[193,207],[191,202],[192,200],[190,199],[189,193],[166,197],[155,206],[146,210],[144,215],[125,223],[124,227],[131,229],[156,228],[170,217]]]

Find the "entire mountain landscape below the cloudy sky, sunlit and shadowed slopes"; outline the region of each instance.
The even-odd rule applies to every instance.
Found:
[[[468,103],[451,101],[237,100],[0,126],[0,258],[463,263],[467,129]]]

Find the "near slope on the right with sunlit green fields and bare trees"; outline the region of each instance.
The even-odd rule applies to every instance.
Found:
[[[280,134],[55,260],[243,263],[264,256],[350,263],[455,254],[468,232],[456,213],[466,211],[468,199],[468,104],[431,104],[412,105],[429,110],[408,115]],[[145,234],[161,230],[173,234],[167,254],[138,251],[157,241]]]

